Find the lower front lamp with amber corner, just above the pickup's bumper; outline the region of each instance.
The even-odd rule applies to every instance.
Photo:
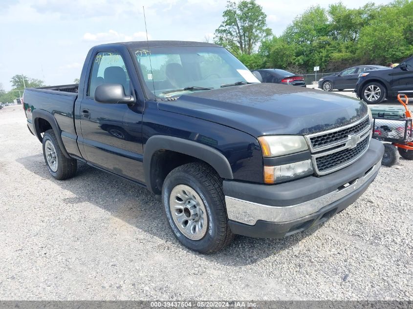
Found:
[[[264,183],[274,184],[313,173],[311,160],[294,162],[277,166],[264,166]]]

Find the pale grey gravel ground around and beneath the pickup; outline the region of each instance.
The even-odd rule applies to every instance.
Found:
[[[2,300],[413,300],[413,162],[317,228],[204,256],[146,189],[84,164],[54,180],[20,106],[0,126]]]

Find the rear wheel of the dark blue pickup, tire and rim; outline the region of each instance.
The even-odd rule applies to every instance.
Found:
[[[53,130],[44,132],[43,157],[50,174],[54,178],[65,180],[76,174],[77,160],[65,157]]]

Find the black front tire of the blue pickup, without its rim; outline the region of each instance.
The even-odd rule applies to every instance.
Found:
[[[205,206],[208,225],[205,235],[199,240],[185,236],[174,222],[170,197],[177,185],[186,185],[195,190]],[[162,197],[167,221],[176,239],[185,247],[211,254],[226,247],[234,239],[234,234],[227,224],[222,180],[211,166],[204,163],[189,163],[176,167],[165,179]]]

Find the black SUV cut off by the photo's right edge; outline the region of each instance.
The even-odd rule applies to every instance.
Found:
[[[359,75],[355,90],[366,103],[376,104],[398,93],[413,93],[413,56],[394,68],[366,71]]]

